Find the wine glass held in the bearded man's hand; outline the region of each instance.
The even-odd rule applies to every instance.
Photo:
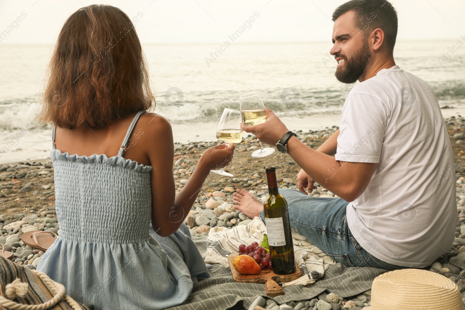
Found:
[[[239,96],[240,113],[242,114],[242,124],[253,126],[265,123],[268,120],[265,105],[259,92],[244,92]],[[252,157],[265,157],[274,153],[272,147],[263,148],[260,142],[260,149],[252,153]]]

